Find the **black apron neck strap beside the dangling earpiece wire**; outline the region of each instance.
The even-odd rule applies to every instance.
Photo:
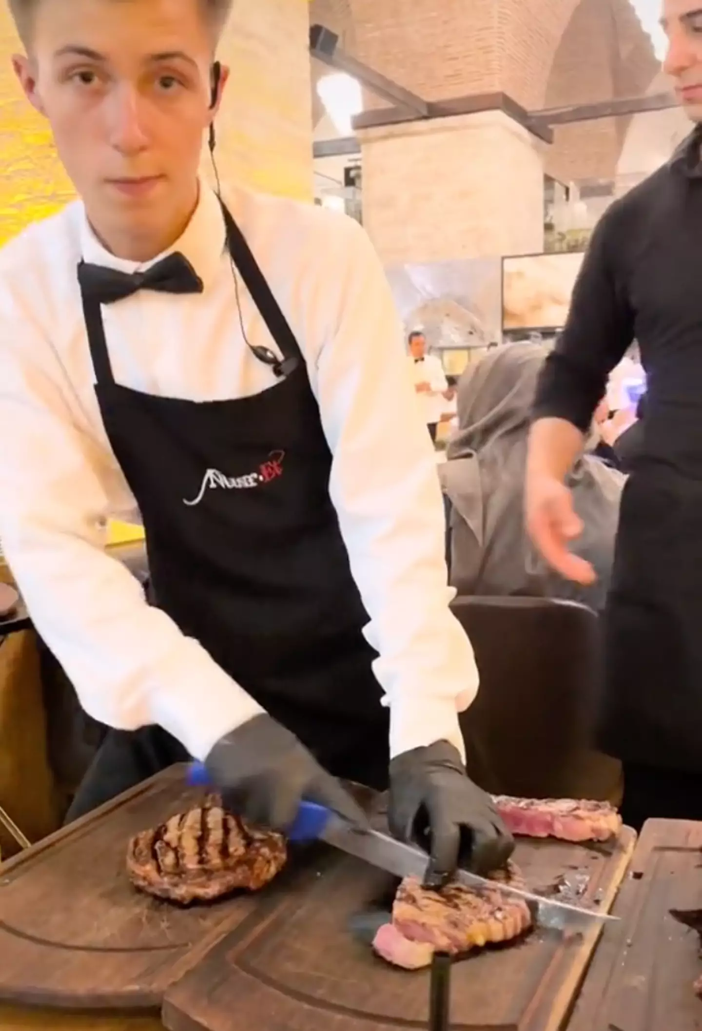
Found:
[[[234,222],[222,198],[220,198],[220,203],[222,204],[222,211],[227,227],[227,246],[232,259],[234,282],[236,284],[236,272],[238,270],[246,286],[246,290],[250,294],[252,300],[268,327],[270,335],[280,348],[282,361],[268,347],[261,345],[253,346],[248,343],[248,340],[246,340],[246,343],[259,361],[272,366],[276,376],[290,375],[302,361],[302,353],[297,338],[290,328],[290,324],[283,315],[280,305],[275,300],[273,292],[266,281],[266,277],[259,268],[258,262],[246,243],[243,233]],[[239,298],[237,295],[237,304],[238,302]],[[240,314],[239,312],[239,317]],[[243,326],[241,329],[243,332]]]

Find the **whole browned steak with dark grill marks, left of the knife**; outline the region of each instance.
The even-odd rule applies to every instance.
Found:
[[[250,827],[209,798],[129,842],[127,872],[149,895],[188,905],[258,891],[287,859],[280,834]]]

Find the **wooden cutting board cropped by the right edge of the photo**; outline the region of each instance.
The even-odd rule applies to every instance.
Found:
[[[701,1031],[699,938],[669,914],[702,908],[702,823],[649,820],[568,1031]]]

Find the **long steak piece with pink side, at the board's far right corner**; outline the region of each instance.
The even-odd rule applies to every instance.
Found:
[[[498,812],[512,834],[563,841],[608,841],[622,829],[622,817],[609,802],[572,798],[511,798],[497,795]]]

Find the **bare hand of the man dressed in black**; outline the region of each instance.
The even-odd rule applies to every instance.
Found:
[[[590,562],[568,551],[568,543],[582,532],[582,520],[565,484],[551,476],[528,481],[526,519],[529,535],[549,566],[576,584],[595,583]]]

